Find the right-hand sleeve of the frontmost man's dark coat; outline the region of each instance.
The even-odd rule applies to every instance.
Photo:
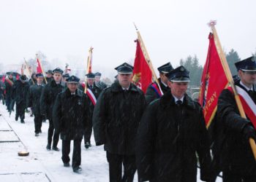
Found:
[[[197,146],[197,154],[200,162],[200,179],[202,181],[209,181],[211,175],[210,138],[208,135],[208,131],[206,130],[206,122],[203,117],[202,108],[199,109],[199,143]]]

